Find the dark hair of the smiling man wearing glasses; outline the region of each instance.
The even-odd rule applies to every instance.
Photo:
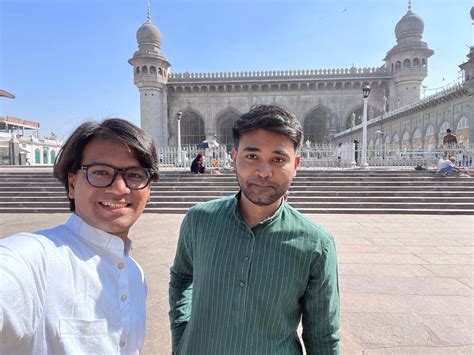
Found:
[[[109,118],[102,122],[88,121],[81,124],[66,140],[54,162],[53,174],[66,188],[69,209],[74,212],[74,199],[69,198],[68,175],[75,174],[82,165],[82,153],[94,138],[123,143],[136,154],[141,166],[153,171],[152,180],[157,181],[158,157],[151,136],[134,124],[121,119]]]

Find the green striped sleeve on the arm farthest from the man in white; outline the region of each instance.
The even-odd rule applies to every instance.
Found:
[[[327,236],[312,266],[303,299],[303,342],[308,355],[339,354],[339,285],[334,240]]]

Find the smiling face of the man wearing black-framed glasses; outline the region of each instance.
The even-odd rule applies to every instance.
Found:
[[[134,152],[122,143],[92,139],[82,153],[82,164],[104,163],[115,168],[141,166]],[[69,198],[74,199],[76,214],[91,226],[125,239],[130,227],[142,214],[150,195],[150,185],[131,190],[119,173],[109,187],[91,186],[86,172],[69,174]]]

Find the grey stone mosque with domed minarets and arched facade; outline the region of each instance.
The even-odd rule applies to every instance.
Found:
[[[471,10],[471,17],[474,16]],[[138,29],[138,50],[129,63],[140,92],[141,126],[157,146],[177,145],[177,114],[184,146],[204,139],[232,142],[233,122],[254,104],[278,104],[300,120],[305,141],[316,144],[362,140],[362,88],[370,85],[368,145],[431,150],[451,128],[474,142],[474,47],[460,65],[461,83],[420,98],[434,54],[422,40],[423,20],[408,3],[395,26],[396,44],[375,68],[334,68],[226,73],[171,73],[161,52],[161,32],[148,7]]]

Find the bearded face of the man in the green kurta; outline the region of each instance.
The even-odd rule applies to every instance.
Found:
[[[244,133],[232,159],[242,198],[257,206],[279,204],[300,163],[290,138],[264,129]]]

